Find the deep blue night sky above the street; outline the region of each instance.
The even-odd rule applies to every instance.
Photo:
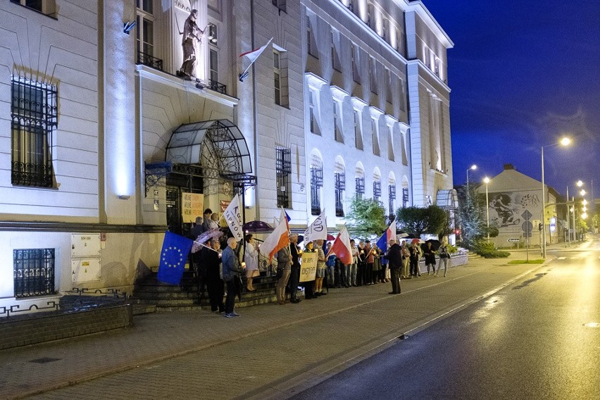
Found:
[[[454,42],[448,51],[453,176],[463,185],[512,163],[565,194],[599,197],[600,1],[422,0]],[[572,190],[572,189],[571,189]],[[573,193],[573,192],[571,192]],[[589,196],[587,196],[589,197]]]

